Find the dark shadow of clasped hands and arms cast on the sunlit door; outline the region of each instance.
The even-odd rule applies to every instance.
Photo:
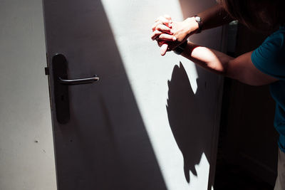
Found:
[[[199,164],[204,151],[204,139],[207,126],[203,121],[199,109],[197,95],[199,94],[199,79],[197,79],[197,93],[192,91],[190,80],[182,63],[172,72],[172,79],[168,80],[167,115],[172,134],[182,152],[184,159],[185,179],[190,183],[190,171],[197,176],[195,165]]]

